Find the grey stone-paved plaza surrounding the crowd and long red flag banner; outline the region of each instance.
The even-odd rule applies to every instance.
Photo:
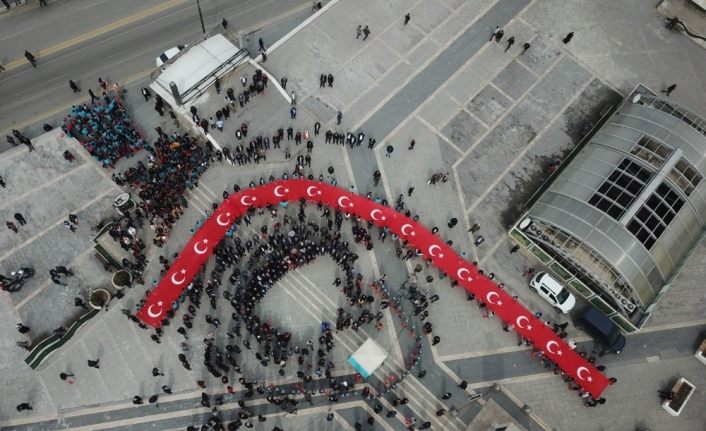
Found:
[[[403,25],[408,12],[411,20]],[[356,39],[358,24],[369,26],[367,40]],[[500,44],[488,41],[496,26],[505,32]],[[570,31],[575,37],[563,44],[561,38]],[[250,38],[257,36],[254,33]],[[515,37],[515,44],[505,50],[509,36]],[[666,30],[654,5],[641,0],[334,0],[283,39],[265,42],[268,46],[276,42],[267,61],[240,66],[222,85],[233,87],[237,94],[241,76],[251,77],[260,67],[274,81],[286,77],[286,90],[278,82],[269,82],[262,94],[231,114],[223,132],[210,130],[221,148],[239,144],[234,131],[243,123],[248,125],[249,138],[271,136],[280,127],[307,129],[314,148],[305,173],[315,178],[322,175],[326,181],[335,178],[341,187],[370,192],[373,199],[390,203],[404,195],[405,207],[421,223],[430,229],[438,227],[439,235],[453,241],[458,253],[478,262],[486,274],[494,273],[496,282],[504,283],[529,310],[541,312],[551,322],[570,319],[529,291],[523,271],[539,268],[538,264],[522,252],[511,253],[514,243],[507,235],[527,200],[549,177],[550,165],[574,149],[603,113],[638,83],[658,92],[676,82],[678,88],[671,98],[706,116],[706,52],[683,35]],[[520,55],[524,42],[531,47]],[[334,75],[333,87],[319,88],[321,73]],[[298,109],[294,120],[285,97],[292,91]],[[208,118],[223,106],[223,96],[211,87],[193,106],[202,118]],[[177,123],[182,131],[201,134],[190,118],[175,122],[168,115],[160,117],[153,102],[145,103],[139,88],[128,87],[124,99],[147,140],[157,138],[156,127],[170,133]],[[336,124],[338,111],[343,114],[340,125]],[[322,132],[313,136],[317,121]],[[365,142],[353,148],[326,144],[326,130],[364,133]],[[377,141],[373,149],[367,147],[368,138]],[[412,140],[416,144],[409,149]],[[129,187],[118,187],[111,180],[113,172],[147,159],[141,151],[122,159],[114,171],[101,168],[60,129],[34,138],[33,143],[36,150],[31,153],[20,145],[0,154],[0,174],[7,182],[7,188],[0,189],[0,214],[4,220],[13,220],[13,214],[21,212],[28,221],[18,234],[6,230],[0,236],[2,272],[21,266],[37,271],[20,292],[0,294],[0,429],[177,430],[204,423],[210,410],[199,404],[202,391],[196,381],[204,380],[211,394],[225,392],[225,385],[208,373],[201,359],[204,347],[200,341],[213,328],[198,316],[199,323],[189,332],[193,360],[187,371],[177,359],[185,340],[176,325],[165,326],[162,342],[156,344],[150,339],[153,331],[140,329],[121,309],[136,310],[146,289],[160,279],[158,257],[172,260],[213,204],[223,200],[223,191],[232,192],[234,184],[247,187],[271,175],[291,175],[297,157],[307,155],[305,145],[285,139],[281,150],[269,151],[267,160],[259,164],[212,163],[198,186],[188,191],[189,206],[164,247],[152,244],[154,233],[148,224],[140,230],[150,262],[145,285],[126,289],[124,298],[113,299],[107,311],[88,321],[32,370],[24,362],[27,352],[16,342],[38,342],[54,329],[68,326],[84,311],[74,306],[75,297],[85,298],[91,289],[110,285],[110,273],[94,256],[96,226],[117,215],[112,208],[115,196],[122,191],[136,194]],[[390,157],[388,146],[394,148]],[[76,156],[73,163],[63,159],[66,149]],[[285,158],[286,152],[291,159]],[[373,179],[376,170],[382,177],[378,185]],[[448,181],[428,184],[435,173],[445,174]],[[414,191],[408,196],[410,187]],[[296,207],[292,203],[281,211],[296,217]],[[320,222],[314,207],[307,209],[309,220]],[[76,233],[63,224],[69,213],[80,219]],[[452,217],[459,224],[449,228]],[[252,218],[253,224],[240,226],[235,235],[250,238],[269,223],[267,214]],[[371,235],[375,232],[372,250],[353,243],[347,223],[342,231],[360,256],[356,270],[366,282],[384,274],[387,285],[399,289],[419,262],[397,259],[397,243],[389,238],[381,243],[377,229],[371,229]],[[480,230],[470,233],[475,223]],[[475,246],[479,235],[485,241]],[[49,279],[48,271],[56,265],[76,273],[67,279],[67,286]],[[213,266],[211,262],[207,273]],[[287,273],[259,304],[259,313],[274,325],[286,327],[298,344],[316,339],[321,322],[335,321],[336,309],[347,306],[332,285],[340,275],[328,256],[319,257]],[[508,429],[521,430],[704,428],[706,367],[693,357],[706,334],[703,243],[646,327],[627,336],[624,352],[599,358],[606,374],[618,381],[604,393],[607,403],[596,408],[584,407],[577,392],[567,389],[559,376],[535,360],[529,348],[518,346],[515,333],[503,331],[497,318],[488,318],[475,302],[467,301],[465,293],[441,279],[439,271],[427,265],[420,279],[427,275],[434,278],[425,286],[429,295],[439,295],[430,306],[428,320],[442,341],[432,346],[431,338],[423,338],[419,367],[392,394],[377,401],[351,396],[329,403],[321,393],[312,405],[300,402],[296,414],[285,414],[255,394],[248,406],[267,421],[254,421],[254,429],[271,430],[276,425],[284,430],[352,430],[360,422],[364,430],[403,430],[406,416],[416,418],[418,426],[429,421],[431,429],[451,431],[509,424],[516,428]],[[214,313],[229,321],[232,310],[225,304]],[[31,331],[19,334],[19,322]],[[368,326],[335,334],[334,376],[352,378],[355,370],[346,359],[368,337],[390,355],[372,376],[372,386],[380,386],[386,376],[404,369],[411,351],[405,328],[389,309],[383,322],[380,331]],[[423,324],[416,323],[418,327]],[[215,334],[221,343],[227,343],[224,331]],[[573,324],[568,333],[580,350],[595,348]],[[280,376],[275,367],[260,366],[253,355],[241,357],[242,368],[252,378],[295,389],[299,381],[295,364]],[[93,358],[101,359],[100,369],[86,366],[86,360]],[[165,376],[153,377],[153,367]],[[416,371],[421,369],[427,373],[418,378]],[[60,380],[61,372],[75,374],[76,382],[69,385]],[[697,391],[679,417],[670,417],[661,409],[657,391],[679,376],[693,382]],[[462,380],[468,382],[466,390],[457,387]],[[160,395],[158,408],[131,403],[135,395],[146,399],[160,393],[165,384],[173,394]],[[219,406],[228,421],[235,417],[236,401],[243,391],[242,385],[233,386],[236,394]],[[441,396],[446,392],[452,396],[444,400]],[[473,394],[480,394],[480,399],[470,402]],[[391,400],[396,397],[408,398],[409,404],[393,406]],[[17,412],[15,406],[25,401],[34,410]],[[373,410],[378,403],[384,408],[381,414]],[[435,412],[441,408],[459,413],[438,417]],[[392,409],[399,413],[385,417]],[[326,420],[329,412],[335,413],[333,421]],[[369,416],[375,418],[374,425],[366,424]]]

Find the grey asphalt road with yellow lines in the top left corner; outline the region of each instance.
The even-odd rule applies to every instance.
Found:
[[[7,68],[0,74],[0,135],[16,128],[34,136],[45,122],[58,125],[71,105],[88,100],[88,88],[96,91],[99,76],[123,87],[147,82],[161,52],[201,34],[193,1],[116,3],[64,0],[0,17],[0,44],[7,46],[0,55]],[[201,1],[206,28],[225,17],[234,39],[239,30],[281,33],[277,29],[291,27],[293,19],[309,13],[309,5],[308,0]],[[36,69],[22,58],[24,49],[37,57]],[[80,93],[70,90],[70,79]],[[0,151],[7,148],[0,138]]]

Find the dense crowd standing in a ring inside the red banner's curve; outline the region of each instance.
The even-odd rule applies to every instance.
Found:
[[[260,180],[260,183],[264,182],[264,179]],[[252,181],[250,186],[255,184]],[[233,189],[237,192],[240,188],[235,185]],[[224,191],[223,195],[227,198],[228,191]],[[271,223],[265,223],[259,229],[251,227],[252,219],[258,214],[264,216],[265,213],[270,215]],[[422,335],[414,329],[416,325],[413,316],[426,317],[427,307],[438,296],[429,296],[427,289],[418,289],[416,276],[410,277],[403,286],[402,290],[406,290],[406,294],[400,294],[402,290],[396,293],[388,290],[384,275],[371,283],[364,283],[363,274],[355,267],[358,255],[354,246],[346,240],[348,234],[343,226],[346,221],[350,222],[350,235],[354,242],[371,248],[373,235],[370,232],[375,229],[371,222],[338,210],[332,211],[320,204],[300,201],[298,205],[286,208],[270,206],[260,210],[251,209],[237,220],[235,225],[239,235],[221,241],[214,249],[215,267],[210,271],[208,279],[204,281],[201,276],[194,279],[167,313],[165,324],[169,326],[165,327],[176,327],[176,332],[184,337],[182,352],[178,355],[184,368],[191,369],[191,352],[195,346],[191,344],[190,332],[200,320],[199,315],[202,315],[205,324],[214,327],[203,340],[204,368],[215,379],[220,379],[228,394],[233,392],[233,375],[238,376],[238,381],[245,387],[243,399],[239,402],[244,403],[254,392],[266,393],[270,404],[291,413],[296,412],[299,402],[297,397],[302,395],[305,400],[312,402],[313,396],[324,394],[328,402],[335,403],[348,396],[363,396],[375,401],[393,391],[418,366],[422,356]],[[406,244],[400,246],[407,247]],[[410,252],[415,255],[418,253],[413,248],[410,248]],[[335,327],[328,322],[322,323],[318,344],[313,340],[304,343],[297,339],[296,334],[273,324],[273,319],[263,314],[259,304],[288,271],[310,264],[321,256],[328,256],[338,265],[341,275],[334,280],[333,285],[343,293],[347,305],[338,308]],[[164,274],[170,261],[165,256],[160,256],[159,261]],[[220,298],[233,307],[228,322],[221,322],[221,318],[216,315],[220,309]],[[209,303],[210,311],[203,309],[205,304],[202,301]],[[138,307],[143,303],[138,304]],[[409,305],[405,306],[406,303]],[[405,368],[381,379],[376,389],[369,385],[357,388],[356,384],[362,381],[359,375],[353,378],[333,377],[332,370],[337,364],[330,352],[336,346],[335,334],[348,329],[358,331],[366,325],[371,327],[371,332],[374,332],[372,328],[380,330],[383,310],[388,307],[398,316],[402,328],[405,328],[404,332],[412,340],[413,347],[406,357]],[[409,311],[405,311],[405,308]],[[130,320],[146,328],[129,310],[123,312]],[[222,311],[220,315],[223,315]],[[215,334],[215,329],[221,327],[225,337],[217,337]],[[424,324],[423,331],[426,334],[432,333],[430,322]],[[159,343],[163,335],[164,331],[158,329],[152,334],[152,339]],[[225,345],[220,343],[222,341],[225,341]],[[243,353],[246,350],[250,352]],[[262,379],[252,377],[257,376],[258,372],[244,365],[246,359],[243,354],[254,355],[262,367],[274,366],[277,374],[296,375],[300,381],[290,387],[268,386]],[[287,368],[288,365],[291,369]],[[203,384],[198,383],[200,386]],[[217,406],[222,402],[222,396],[210,396],[204,392],[204,406]],[[379,404],[376,402],[376,405]],[[213,407],[211,425],[220,423],[216,406]],[[238,429],[248,424],[249,418],[253,417],[252,413],[245,408],[241,412],[244,414],[231,422],[227,429]]]

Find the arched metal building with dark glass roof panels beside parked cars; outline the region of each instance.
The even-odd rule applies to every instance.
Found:
[[[639,86],[512,229],[626,331],[706,232],[706,121]]]

